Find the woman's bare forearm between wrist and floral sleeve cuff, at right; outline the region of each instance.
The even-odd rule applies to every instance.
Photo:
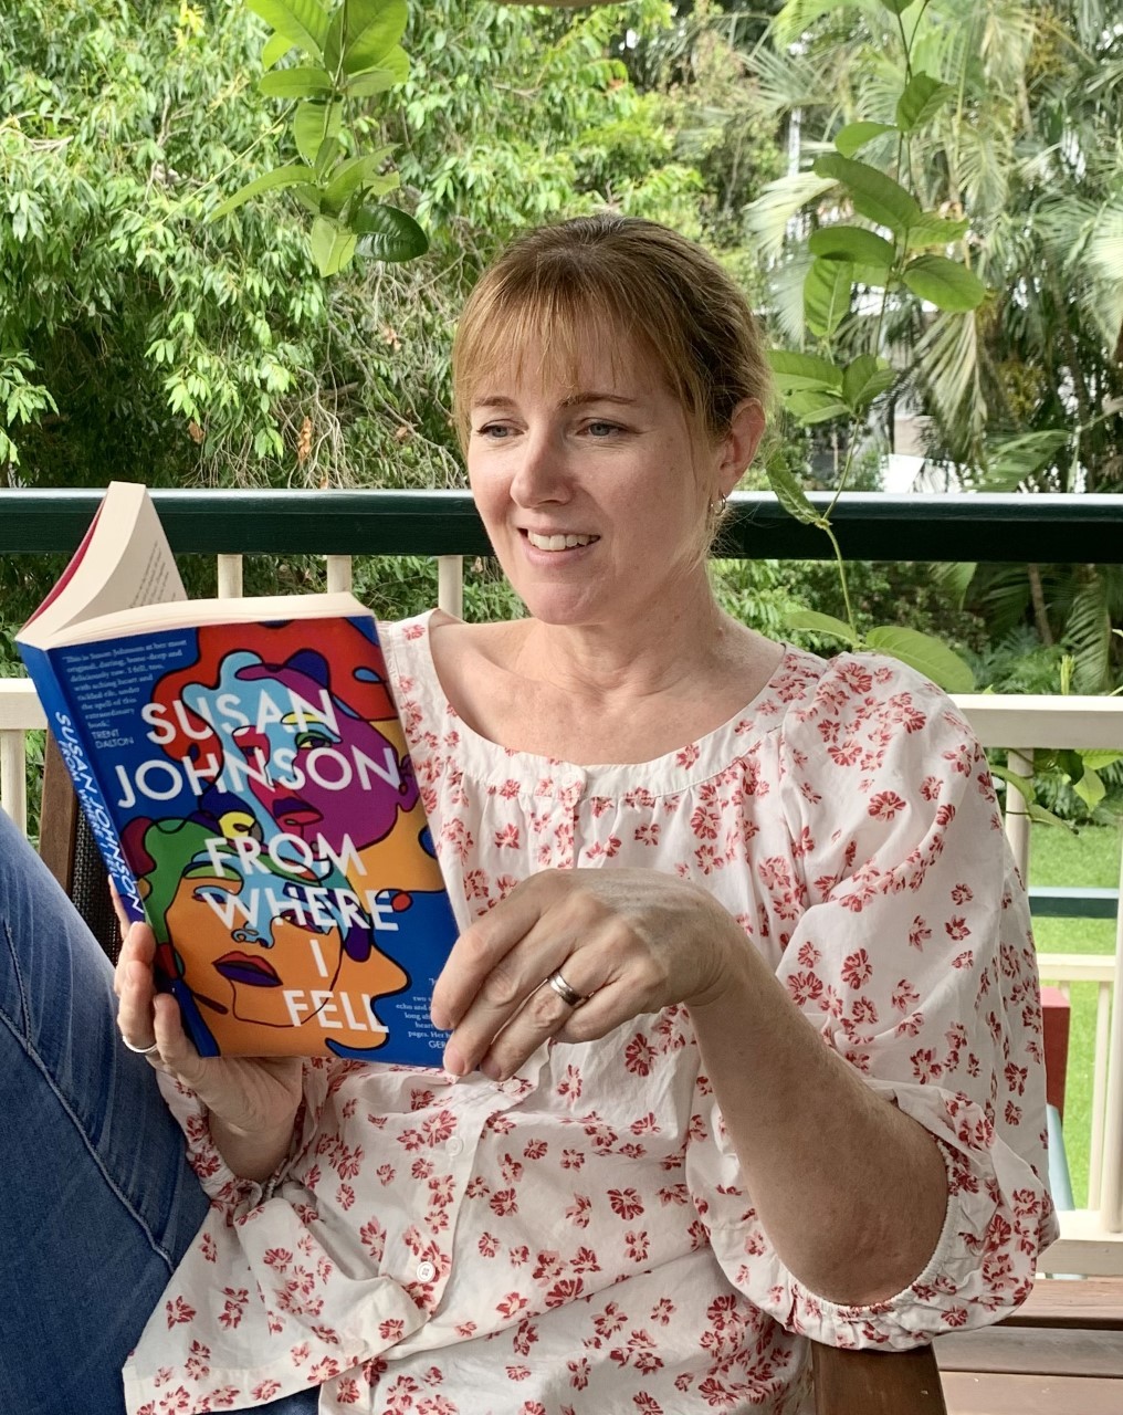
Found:
[[[932,1136],[823,1043],[758,955],[690,1015],[757,1215],[793,1276],[846,1305],[919,1276],[948,1203]]]

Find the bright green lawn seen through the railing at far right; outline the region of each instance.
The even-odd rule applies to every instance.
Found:
[[[1119,826],[1085,826],[1071,835],[1059,826],[1034,825],[1030,883],[1072,889],[1119,886]],[[1037,918],[1041,952],[1113,954],[1115,923],[1100,918]],[[1088,1203],[1088,1149],[1092,1128],[1092,1061],[1096,1034],[1096,985],[1073,983],[1065,1082],[1065,1150],[1078,1207]]]

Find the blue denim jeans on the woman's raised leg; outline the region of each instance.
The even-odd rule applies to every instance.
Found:
[[[0,1409],[120,1415],[120,1368],[208,1201],[113,971],[0,811]],[[270,1415],[308,1415],[315,1391]]]

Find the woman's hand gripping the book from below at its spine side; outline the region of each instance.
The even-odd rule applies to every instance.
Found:
[[[130,1046],[156,1043],[149,1064],[194,1091],[209,1111],[211,1133],[236,1174],[267,1179],[289,1150],[301,1097],[300,1057],[201,1057],[184,1032],[180,1005],[156,990],[156,940],[147,924],[122,921],[113,978],[117,1026]]]

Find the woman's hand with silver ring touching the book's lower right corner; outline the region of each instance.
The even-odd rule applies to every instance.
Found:
[[[444,1065],[504,1080],[547,1039],[593,1041],[644,1012],[718,996],[745,935],[704,890],[656,870],[546,870],[457,940],[433,990]],[[560,972],[583,1002],[547,982]]]

